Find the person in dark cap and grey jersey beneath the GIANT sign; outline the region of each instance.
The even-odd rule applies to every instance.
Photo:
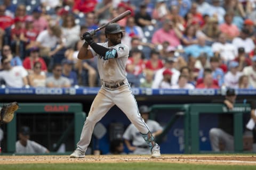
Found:
[[[28,126],[21,126],[18,135],[19,140],[15,145],[15,154],[45,154],[50,152],[39,143],[29,140],[30,128]]]

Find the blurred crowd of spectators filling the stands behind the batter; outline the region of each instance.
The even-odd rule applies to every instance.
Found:
[[[132,87],[256,88],[253,0],[3,0],[1,83],[99,87],[97,62],[77,60],[79,37],[118,14]],[[95,41],[106,41],[103,31]]]

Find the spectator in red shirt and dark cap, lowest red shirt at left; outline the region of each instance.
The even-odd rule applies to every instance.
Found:
[[[39,56],[39,48],[38,47],[31,47],[29,49],[29,56],[27,56],[23,60],[23,67],[28,71],[28,73],[33,73],[34,70],[34,64],[35,62],[41,63],[41,70],[43,72],[47,72],[47,66],[42,57]]]

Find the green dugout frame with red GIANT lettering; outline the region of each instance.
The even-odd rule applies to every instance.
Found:
[[[83,112],[83,105],[80,103],[19,103],[19,109],[15,112],[13,120],[7,124],[7,152],[15,152],[15,142],[17,139],[17,114],[74,114],[73,120],[68,128],[61,133],[55,149],[67,139],[68,134],[74,127],[74,148],[80,139],[86,114]],[[38,122],[40,123],[40,122]]]

